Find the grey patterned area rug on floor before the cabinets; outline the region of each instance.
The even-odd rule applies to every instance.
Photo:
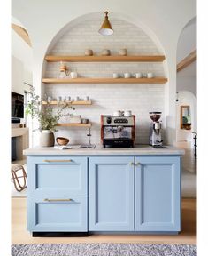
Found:
[[[190,244],[13,244],[12,256],[196,256]]]

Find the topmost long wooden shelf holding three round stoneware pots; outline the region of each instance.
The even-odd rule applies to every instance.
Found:
[[[141,55],[141,56],[54,56],[47,55],[48,62],[69,61],[69,62],[162,62],[164,55]]]

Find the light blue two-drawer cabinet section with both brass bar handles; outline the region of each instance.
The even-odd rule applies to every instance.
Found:
[[[27,229],[88,231],[88,157],[27,156]]]

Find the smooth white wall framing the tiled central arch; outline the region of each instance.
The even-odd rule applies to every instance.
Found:
[[[174,143],[175,125],[175,92],[176,92],[176,49],[181,29],[196,16],[196,0],[90,0],[90,1],[50,1],[19,0],[12,1],[12,15],[18,18],[27,28],[34,49],[34,85],[41,91],[42,60],[50,42],[66,24],[83,17],[87,13],[100,12],[100,23],[105,10],[119,13],[123,19],[132,21],[158,44],[166,54],[165,115],[167,138]],[[177,19],[175,18],[177,15]],[[97,29],[100,26],[97,24]]]

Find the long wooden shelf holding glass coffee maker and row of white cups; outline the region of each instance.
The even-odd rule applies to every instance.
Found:
[[[165,84],[167,78],[43,78],[46,84]]]

